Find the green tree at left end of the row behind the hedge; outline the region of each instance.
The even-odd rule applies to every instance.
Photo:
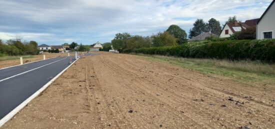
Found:
[[[111,44],[113,49],[117,49],[119,51],[126,48],[126,41],[130,38],[131,35],[129,33],[117,33],[115,34],[114,39],[111,40]]]

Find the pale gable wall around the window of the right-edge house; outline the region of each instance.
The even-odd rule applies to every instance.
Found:
[[[275,38],[275,3],[271,5],[265,15],[257,24],[257,39],[263,39],[263,32],[272,31],[272,38]]]

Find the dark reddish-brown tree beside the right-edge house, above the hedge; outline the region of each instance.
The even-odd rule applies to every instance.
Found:
[[[241,29],[239,35],[237,36],[237,39],[256,39],[256,27],[248,27],[246,29]]]

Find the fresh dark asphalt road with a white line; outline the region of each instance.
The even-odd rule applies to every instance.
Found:
[[[73,56],[56,57],[0,70],[0,119],[69,65]]]

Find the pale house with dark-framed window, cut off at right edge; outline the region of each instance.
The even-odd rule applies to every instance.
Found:
[[[263,12],[256,24],[256,39],[275,38],[275,0]]]

